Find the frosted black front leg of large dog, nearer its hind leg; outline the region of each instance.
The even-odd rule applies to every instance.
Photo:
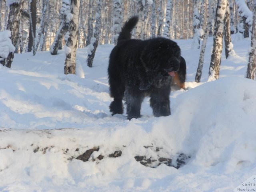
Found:
[[[126,98],[126,113],[127,119],[140,118],[140,108],[144,96],[141,92],[136,92],[132,88],[126,88],[124,92]]]

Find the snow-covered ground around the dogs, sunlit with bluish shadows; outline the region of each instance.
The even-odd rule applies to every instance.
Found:
[[[176,40],[186,90],[172,91],[172,115],[155,118],[145,99],[142,118],[131,121],[108,109],[113,45],[99,46],[92,68],[79,49],[76,75],[64,75],[63,51],[15,54],[11,69],[0,66],[0,191],[233,191],[256,175],[256,82],[244,78],[250,39],[232,40],[236,55],[223,53],[220,79],[207,82],[208,40],[202,83],[194,82],[200,50]],[[88,161],[76,159],[90,149]]]

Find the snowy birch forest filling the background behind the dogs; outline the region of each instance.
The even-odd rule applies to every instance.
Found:
[[[235,54],[231,35],[251,38],[247,78],[255,79],[255,0],[0,0],[0,10],[0,31],[11,31],[16,48],[1,61],[9,68],[15,53],[55,55],[64,49],[65,74],[74,74],[76,49],[86,46],[86,62],[92,67],[97,46],[116,44],[124,22],[138,15],[134,38],[193,39],[191,47],[201,50],[196,82],[209,36],[213,36],[209,80],[218,79],[222,49],[226,58]]]

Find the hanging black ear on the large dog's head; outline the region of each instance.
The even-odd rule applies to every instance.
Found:
[[[158,52],[159,50],[150,43],[142,50],[140,60],[146,70],[155,71],[159,68],[160,54],[158,54]]]

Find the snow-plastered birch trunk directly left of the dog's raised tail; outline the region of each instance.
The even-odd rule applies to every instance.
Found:
[[[122,26],[122,6],[121,0],[113,1],[113,31],[114,31],[114,44],[117,44],[119,32],[121,32]]]

